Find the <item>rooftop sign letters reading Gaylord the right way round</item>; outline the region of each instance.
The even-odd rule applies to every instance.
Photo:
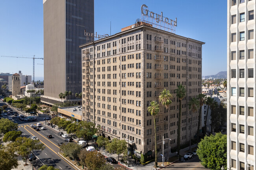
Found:
[[[144,8],[145,7],[145,8]],[[171,20],[165,16],[163,16],[163,12],[160,14],[154,13],[152,11],[148,11],[148,6],[143,4],[141,5],[141,14],[145,16],[149,16],[150,18],[156,19],[156,22],[159,23],[159,21],[165,22],[166,24],[177,26],[177,18],[176,20]]]

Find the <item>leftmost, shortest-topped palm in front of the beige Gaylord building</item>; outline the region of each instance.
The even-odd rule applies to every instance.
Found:
[[[156,141],[156,116],[159,112],[159,104],[156,101],[150,102],[150,106],[148,107],[148,112],[150,115],[154,117],[154,126],[155,126],[155,167],[157,167],[157,141]]]

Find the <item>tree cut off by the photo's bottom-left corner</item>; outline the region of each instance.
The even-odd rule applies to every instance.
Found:
[[[15,154],[15,148],[11,145],[0,145],[0,169],[11,170],[18,167],[18,159]]]

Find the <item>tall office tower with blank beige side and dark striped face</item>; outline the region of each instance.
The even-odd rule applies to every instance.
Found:
[[[84,30],[94,33],[94,0],[43,0],[44,11],[44,95],[49,105],[81,101],[82,63],[79,46],[89,42]],[[59,93],[72,95],[59,99]]]

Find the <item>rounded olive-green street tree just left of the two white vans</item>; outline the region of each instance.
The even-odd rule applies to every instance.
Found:
[[[62,145],[60,147],[61,151],[67,155],[70,159],[78,159],[78,155],[80,153],[80,150],[82,150],[82,146],[76,143],[68,143],[65,145]]]

